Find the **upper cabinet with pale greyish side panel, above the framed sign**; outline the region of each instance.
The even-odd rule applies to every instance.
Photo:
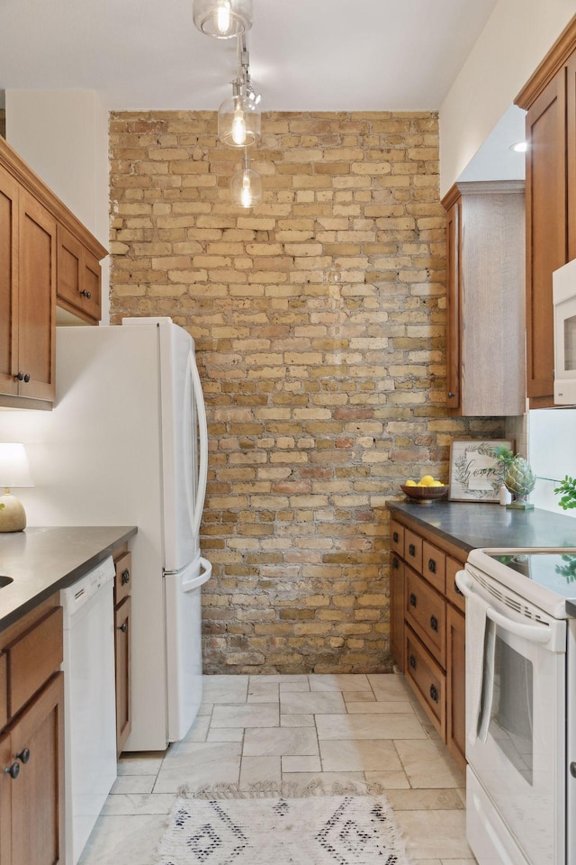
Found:
[[[524,414],[524,184],[457,183],[442,204],[446,405],[453,414]]]

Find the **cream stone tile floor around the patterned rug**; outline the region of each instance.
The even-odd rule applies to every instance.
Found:
[[[403,676],[207,676],[166,754],[128,754],[79,865],[157,865],[182,785],[322,778],[385,788],[416,865],[473,865],[464,777]]]

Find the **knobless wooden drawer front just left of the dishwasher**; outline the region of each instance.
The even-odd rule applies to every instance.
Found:
[[[6,655],[8,716],[12,718],[62,663],[62,607],[7,646]]]

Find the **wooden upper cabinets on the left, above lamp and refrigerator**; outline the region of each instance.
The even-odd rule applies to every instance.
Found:
[[[0,139],[0,406],[51,408],[56,307],[74,323],[98,323],[105,255]]]

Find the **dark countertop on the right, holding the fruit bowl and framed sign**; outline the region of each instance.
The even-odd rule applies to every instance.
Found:
[[[576,519],[539,507],[517,511],[485,502],[444,499],[429,505],[409,501],[389,501],[387,505],[392,516],[409,515],[466,552],[478,547],[576,546]]]

